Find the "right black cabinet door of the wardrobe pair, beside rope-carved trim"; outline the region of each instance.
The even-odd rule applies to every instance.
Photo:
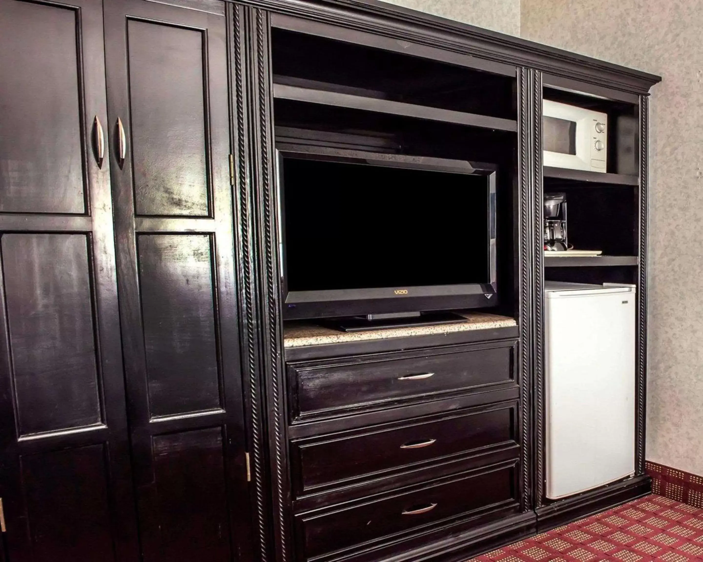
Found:
[[[225,5],[172,4],[105,2],[129,424],[144,560],[224,562],[249,511]]]

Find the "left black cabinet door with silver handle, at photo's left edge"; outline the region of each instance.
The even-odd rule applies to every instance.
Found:
[[[9,559],[134,561],[110,164],[99,162],[109,150],[98,125],[108,119],[102,1],[3,1],[0,76]]]

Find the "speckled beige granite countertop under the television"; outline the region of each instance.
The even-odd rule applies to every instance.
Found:
[[[306,322],[291,322],[283,329],[283,347],[319,346],[324,344],[341,344],[347,341],[366,341],[369,339],[388,339],[406,336],[425,336],[427,334],[452,334],[474,329],[503,328],[516,326],[517,322],[507,316],[477,312],[459,313],[466,322],[456,324],[438,324],[434,326],[417,326],[404,328],[386,328],[368,332],[340,332]]]

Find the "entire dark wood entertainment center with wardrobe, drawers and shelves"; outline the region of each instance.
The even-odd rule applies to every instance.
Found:
[[[659,77],[375,0],[0,15],[0,562],[463,561],[650,492]],[[607,173],[542,165],[543,99],[607,113]],[[284,322],[276,150],[305,147],[494,164],[498,305]],[[543,256],[549,192],[603,256]],[[636,474],[557,501],[545,280],[638,298]]]

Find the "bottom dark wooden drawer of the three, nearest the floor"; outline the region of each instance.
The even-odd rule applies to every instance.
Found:
[[[325,514],[299,515],[299,559],[309,560],[389,535],[413,532],[489,507],[499,509],[517,502],[515,489],[515,465],[511,464]]]

